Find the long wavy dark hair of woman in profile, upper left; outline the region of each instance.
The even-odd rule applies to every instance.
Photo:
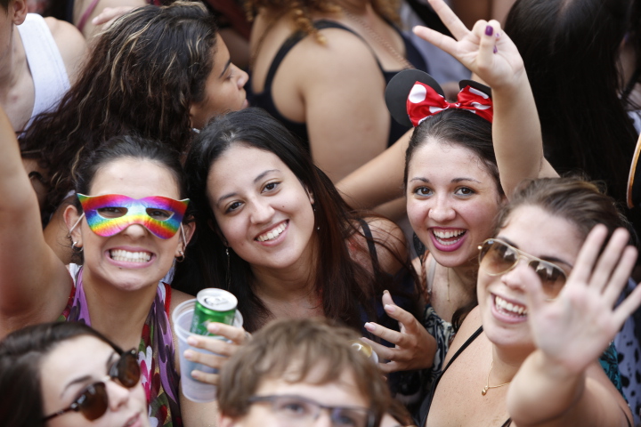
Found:
[[[135,132],[186,149],[190,107],[205,97],[216,37],[215,19],[191,1],[134,9],[97,37],[60,106],[20,139],[50,175],[41,210],[60,204],[71,189],[71,165],[112,136]]]

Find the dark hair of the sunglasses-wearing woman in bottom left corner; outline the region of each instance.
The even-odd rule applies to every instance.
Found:
[[[93,336],[122,350],[85,324],[55,322],[27,326],[0,342],[0,419],[12,427],[44,426],[40,381],[42,360],[61,342],[78,336]],[[90,354],[86,355],[91,357]]]

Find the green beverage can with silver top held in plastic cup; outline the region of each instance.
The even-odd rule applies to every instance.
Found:
[[[236,297],[223,289],[203,289],[196,295],[194,317],[191,319],[190,332],[192,334],[213,336],[207,332],[210,322],[233,325],[236,316]]]

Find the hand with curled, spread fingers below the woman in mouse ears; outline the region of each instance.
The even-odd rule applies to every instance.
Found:
[[[383,294],[383,306],[390,318],[398,320],[401,332],[393,331],[373,322],[365,324],[365,328],[370,333],[395,345],[394,348],[389,348],[367,338],[362,338],[377,352],[379,360],[389,360],[387,363],[379,363],[379,369],[388,374],[431,367],[436,353],[434,336],[428,334],[426,328],[418,323],[411,313],[394,304],[392,296],[387,291]]]

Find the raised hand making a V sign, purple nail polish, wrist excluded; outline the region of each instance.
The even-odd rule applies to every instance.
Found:
[[[414,28],[417,36],[450,53],[492,88],[519,82],[523,59],[499,21],[479,20],[470,31],[443,0],[429,3],[456,39],[420,26]]]

